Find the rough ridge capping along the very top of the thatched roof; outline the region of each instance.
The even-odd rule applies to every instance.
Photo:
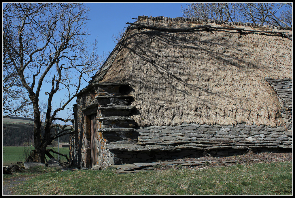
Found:
[[[255,23],[243,23],[243,22],[227,22],[227,21],[219,21],[219,20],[213,20],[213,19],[199,19],[199,18],[184,18],[184,17],[176,17],[176,18],[169,18],[166,16],[138,16],[138,20],[152,20],[152,21],[198,21],[198,22],[204,22],[204,23],[215,23],[218,25],[229,25],[229,26],[249,26],[249,27],[259,27],[259,28],[271,28],[276,30],[290,30],[292,31],[292,27],[282,27],[282,26],[272,26],[272,25],[260,25]]]

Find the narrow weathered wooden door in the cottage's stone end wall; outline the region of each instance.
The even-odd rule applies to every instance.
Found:
[[[90,148],[91,148],[91,167],[96,165],[96,154],[97,154],[97,146],[96,146],[96,140],[97,140],[97,129],[96,129],[96,115],[91,115],[91,142],[90,142]]]

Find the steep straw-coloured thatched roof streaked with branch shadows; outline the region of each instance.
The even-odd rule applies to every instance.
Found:
[[[283,124],[264,78],[293,78],[292,41],[284,36],[291,30],[146,16],[134,23],[144,26],[127,29],[92,83],[130,83],[140,126]],[[180,30],[204,25],[230,29]]]

